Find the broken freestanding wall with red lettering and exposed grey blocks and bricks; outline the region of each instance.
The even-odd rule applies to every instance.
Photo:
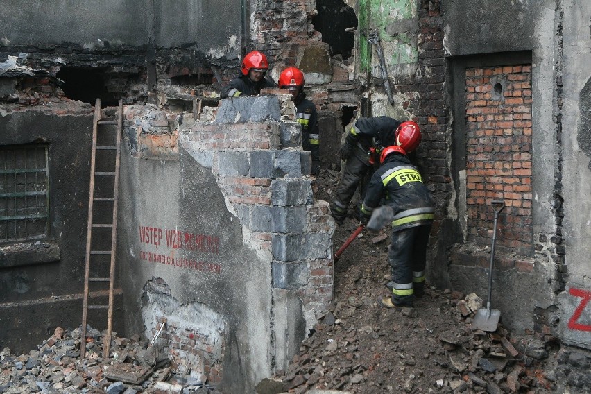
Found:
[[[291,113],[275,96],[227,99],[216,123],[126,108],[126,331],[150,337],[166,318],[178,363],[232,393],[286,368],[332,300],[334,222],[284,102]]]

